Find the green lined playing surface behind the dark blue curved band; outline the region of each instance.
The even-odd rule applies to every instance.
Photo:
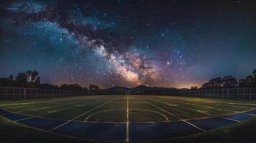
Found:
[[[128,102],[128,104],[127,104]],[[20,114],[87,122],[166,122],[256,109],[255,100],[146,95],[99,95],[1,101]],[[127,108],[129,117],[127,119]]]

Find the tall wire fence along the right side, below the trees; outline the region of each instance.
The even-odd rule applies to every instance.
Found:
[[[256,99],[256,88],[196,89],[176,91],[173,96]]]

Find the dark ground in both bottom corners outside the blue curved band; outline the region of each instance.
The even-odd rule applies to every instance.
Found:
[[[215,129],[204,134],[196,134],[190,137],[182,137],[179,139],[170,139],[165,142],[255,142],[256,132],[256,117],[248,119],[240,124],[233,124],[221,129]],[[75,139],[71,137],[65,137],[49,132],[39,131],[37,129],[29,128],[23,124],[12,122],[9,119],[0,117],[0,142],[90,142],[82,139]]]

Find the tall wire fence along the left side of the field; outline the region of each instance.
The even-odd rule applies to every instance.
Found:
[[[31,89],[18,87],[0,87],[0,99],[28,99],[47,97],[75,97],[87,94],[86,91],[61,89]]]

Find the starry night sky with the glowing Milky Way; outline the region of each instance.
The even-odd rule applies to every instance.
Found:
[[[1,1],[0,77],[201,86],[256,68],[254,1]]]

